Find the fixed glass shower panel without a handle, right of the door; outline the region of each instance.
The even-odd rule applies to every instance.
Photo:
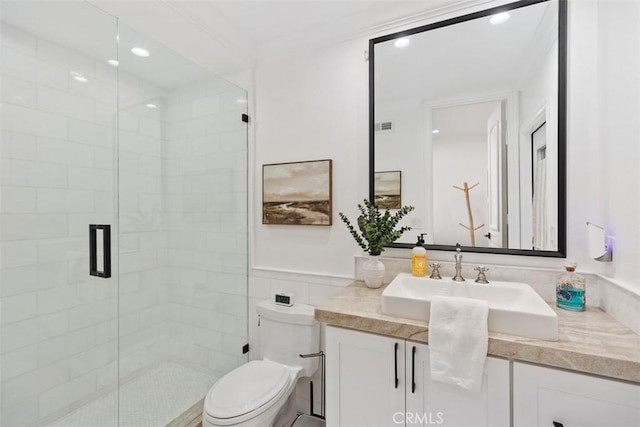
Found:
[[[164,426],[247,360],[247,96],[122,23],[118,59],[119,421]]]

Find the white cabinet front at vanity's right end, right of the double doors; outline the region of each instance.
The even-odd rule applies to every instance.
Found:
[[[640,385],[513,363],[517,427],[640,426]]]

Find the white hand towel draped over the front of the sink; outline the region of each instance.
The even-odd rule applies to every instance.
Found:
[[[480,391],[489,346],[487,301],[434,296],[429,319],[431,378]]]

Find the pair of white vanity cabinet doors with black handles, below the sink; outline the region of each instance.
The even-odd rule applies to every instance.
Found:
[[[472,393],[431,380],[426,344],[327,326],[326,350],[327,427],[509,426],[506,360]]]

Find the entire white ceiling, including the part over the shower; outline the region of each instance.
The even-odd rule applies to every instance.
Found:
[[[156,52],[160,47],[165,51],[163,58],[154,57],[153,66],[147,61],[146,67],[132,63],[133,68],[128,68],[162,86],[175,84],[182,73],[196,73],[184,58],[209,72],[227,75],[250,69],[268,57],[368,38],[384,25],[407,17],[483,1],[3,0],[2,20],[106,60],[103,56],[115,55],[111,34],[118,17],[121,44],[144,43]],[[121,53],[125,47],[121,46]],[[158,69],[170,72],[158,75]]]

